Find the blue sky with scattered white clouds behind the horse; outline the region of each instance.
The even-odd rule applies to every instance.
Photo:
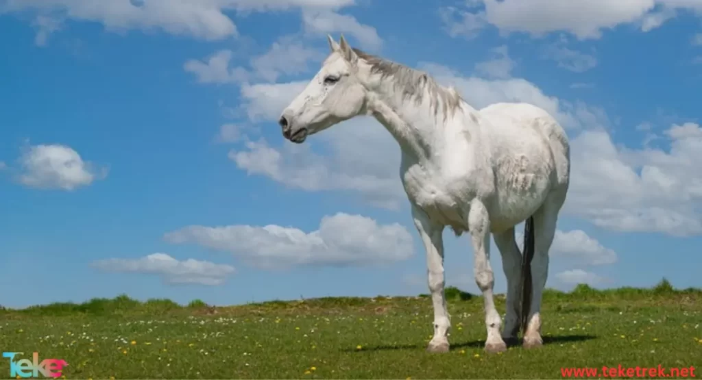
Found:
[[[274,122],[327,33],[567,128],[549,287],[702,285],[702,2],[91,3],[0,0],[0,304],[427,292],[392,137],[357,118],[293,146]],[[468,238],[444,240],[477,292]]]

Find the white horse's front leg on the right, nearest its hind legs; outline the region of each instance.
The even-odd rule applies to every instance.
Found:
[[[485,303],[485,325],[487,327],[487,339],[485,341],[485,351],[488,353],[498,353],[507,351],[507,345],[500,335],[502,320],[495,308],[493,297],[493,287],[495,277],[490,266],[490,219],[481,201],[473,201],[468,213],[468,226],[475,256],[475,283],[477,283],[483,295]]]

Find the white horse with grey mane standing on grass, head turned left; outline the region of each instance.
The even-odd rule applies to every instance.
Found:
[[[485,304],[489,353],[505,351],[520,328],[525,348],[541,346],[541,296],[558,214],[566,199],[570,147],[563,128],[541,108],[492,104],[477,110],[435,79],[328,36],[331,54],[283,111],[283,136],[298,144],[360,114],[374,116],[402,150],[400,178],[427,254],[434,306],[430,352],[449,351],[442,232],[468,231],[475,281]],[[524,255],[515,225],[526,220]],[[507,277],[505,328],[493,298],[490,236]],[[533,282],[533,284],[532,284]],[[519,299],[519,293],[522,299]]]

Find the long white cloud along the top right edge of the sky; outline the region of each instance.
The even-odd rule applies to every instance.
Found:
[[[543,36],[550,32],[569,32],[578,39],[598,39],[604,30],[623,24],[633,24],[642,32],[649,32],[674,18],[678,9],[702,15],[702,2],[588,0],[573,4],[552,0],[480,0],[470,1],[465,10],[441,8],[440,15],[451,36],[474,37],[486,25],[494,25],[504,33]],[[452,17],[454,15],[458,18]]]

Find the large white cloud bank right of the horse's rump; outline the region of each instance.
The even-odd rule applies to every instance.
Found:
[[[702,233],[702,128],[673,125],[670,149],[616,147],[604,130],[571,141],[567,212],[618,231]]]

